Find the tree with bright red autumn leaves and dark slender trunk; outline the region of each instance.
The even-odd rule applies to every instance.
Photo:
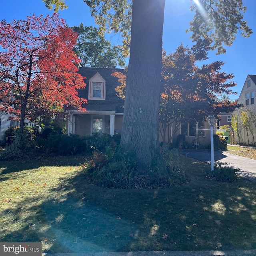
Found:
[[[84,110],[78,97],[84,78],[73,48],[77,34],[65,20],[35,14],[26,20],[0,22],[0,111],[20,119],[54,114],[64,105]]]

